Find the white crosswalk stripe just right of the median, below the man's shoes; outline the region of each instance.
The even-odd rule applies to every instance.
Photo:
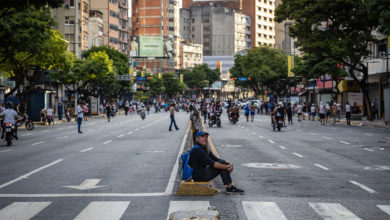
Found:
[[[287,220],[274,202],[242,201],[248,220]]]

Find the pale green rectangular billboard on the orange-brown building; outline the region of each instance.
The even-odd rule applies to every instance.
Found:
[[[140,36],[139,56],[141,57],[162,57],[164,40],[161,36]]]

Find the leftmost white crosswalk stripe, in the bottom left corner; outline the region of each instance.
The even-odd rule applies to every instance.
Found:
[[[51,202],[14,202],[0,210],[0,219],[31,219]]]

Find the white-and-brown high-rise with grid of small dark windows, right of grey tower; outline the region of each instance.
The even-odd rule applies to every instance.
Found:
[[[275,47],[275,0],[243,0],[242,11],[251,17],[252,47]]]

